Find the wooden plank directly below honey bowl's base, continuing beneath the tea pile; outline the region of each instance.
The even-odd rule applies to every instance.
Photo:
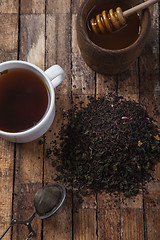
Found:
[[[117,75],[96,73],[96,97],[117,95]],[[107,193],[97,196],[97,226],[98,240],[120,239],[120,196]]]

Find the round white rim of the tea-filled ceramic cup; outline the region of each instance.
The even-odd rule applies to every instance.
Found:
[[[45,114],[43,115],[43,117],[39,120],[39,122],[26,129],[26,130],[23,130],[23,131],[20,131],[20,132],[7,132],[7,131],[3,131],[3,130],[0,130],[0,135],[3,135],[4,137],[20,137],[20,136],[27,136],[27,135],[30,135],[30,134],[33,134],[35,131],[38,131],[40,130],[41,126],[47,122],[47,120],[50,118],[50,115],[52,114],[53,112],[53,109],[55,107],[55,93],[54,93],[54,88],[52,87],[52,83],[51,83],[51,80],[49,79],[49,77],[47,76],[47,74],[45,74],[45,71],[43,71],[42,69],[40,69],[38,66],[32,64],[32,63],[29,63],[29,62],[26,62],[26,61],[22,61],[22,60],[11,60],[11,61],[6,61],[6,62],[2,62],[0,63],[0,67],[1,66],[4,66],[4,65],[7,65],[7,64],[22,64],[24,65],[24,68],[25,68],[25,65],[31,67],[32,69],[36,69],[37,72],[39,72],[42,76],[42,78],[44,79],[44,82],[48,88],[48,91],[49,91],[49,95],[50,95],[50,103],[49,103],[49,106],[47,107],[46,109],[46,112]],[[13,67],[15,68],[15,67]],[[18,68],[18,66],[17,66]],[[12,69],[12,68],[11,68]]]

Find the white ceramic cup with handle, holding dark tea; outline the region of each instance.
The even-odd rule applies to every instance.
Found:
[[[49,129],[54,120],[55,116],[54,88],[57,87],[63,81],[65,73],[59,65],[54,65],[44,72],[34,64],[25,61],[15,60],[3,62],[0,64],[0,72],[13,68],[14,69],[23,68],[36,73],[44,81],[50,95],[50,104],[48,110],[36,125],[22,132],[15,133],[0,130],[0,136],[8,141],[17,143],[31,142],[42,136]]]

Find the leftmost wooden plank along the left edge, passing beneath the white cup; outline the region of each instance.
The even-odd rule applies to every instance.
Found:
[[[0,59],[1,62],[17,59],[18,1],[0,2]],[[10,8],[9,8],[10,7]],[[14,182],[14,144],[0,138],[0,235],[12,218]],[[10,239],[11,231],[4,237]]]

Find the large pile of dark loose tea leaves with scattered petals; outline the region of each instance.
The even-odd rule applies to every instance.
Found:
[[[139,104],[119,97],[90,98],[87,107],[74,106],[65,115],[61,145],[54,152],[56,180],[80,195],[105,190],[130,197],[152,179],[160,133]]]

